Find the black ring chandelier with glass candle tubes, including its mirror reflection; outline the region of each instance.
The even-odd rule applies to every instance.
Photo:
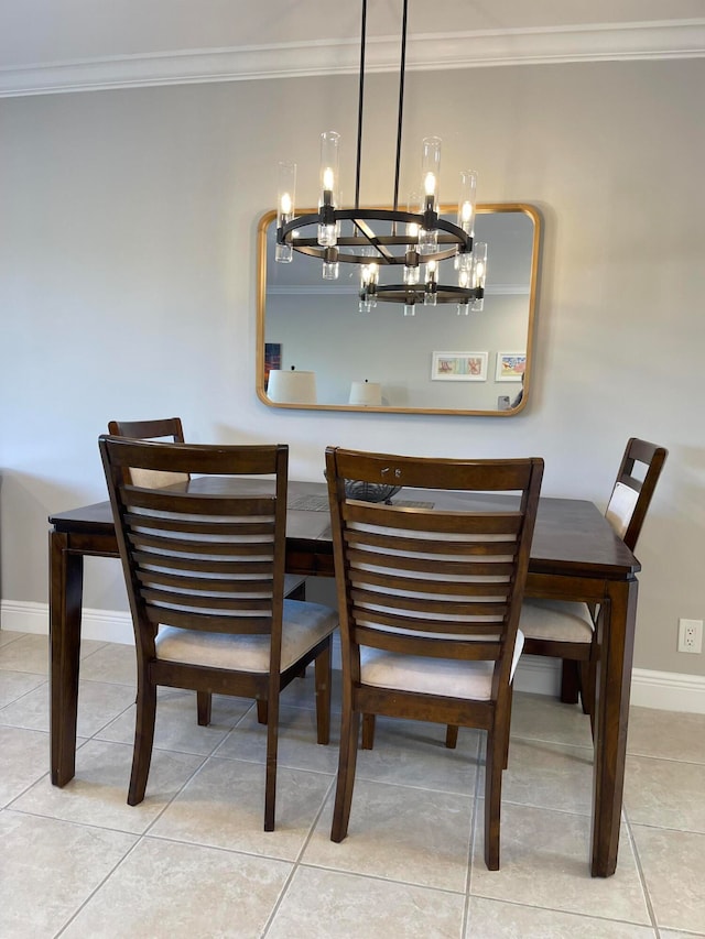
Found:
[[[405,316],[413,316],[419,304],[438,303],[455,303],[458,314],[467,315],[482,309],[487,272],[487,244],[474,242],[477,174],[469,170],[460,173],[457,220],[451,221],[441,214],[438,200],[441,140],[427,137],[423,140],[419,189],[409,196],[405,209],[399,208],[406,14],[408,0],[403,0],[393,208],[361,208],[359,203],[367,32],[367,0],[362,0],[355,206],[340,206],[340,135],[326,131],[321,134],[318,211],[295,215],[296,164],[279,164],[274,256],[280,263],[291,262],[294,252],[318,258],[325,280],[337,280],[341,263],[358,264],[362,313],[381,301],[403,304]],[[453,259],[454,284],[438,281],[440,264],[447,259]],[[382,277],[380,271],[384,272]],[[388,273],[401,283],[387,283]]]

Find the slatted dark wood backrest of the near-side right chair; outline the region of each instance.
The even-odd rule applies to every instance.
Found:
[[[492,697],[508,687],[543,461],[328,448],[326,474],[341,649],[352,680],[359,646],[371,646],[494,660]],[[451,498],[447,509],[367,503],[346,495],[346,479],[474,495],[467,503]]]

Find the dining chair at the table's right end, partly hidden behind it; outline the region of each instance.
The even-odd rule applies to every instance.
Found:
[[[605,516],[630,550],[637,546],[668,450],[631,437],[617,471]],[[599,609],[558,600],[525,600],[520,627],[524,652],[562,658],[561,700],[576,703],[594,722],[596,625]]]

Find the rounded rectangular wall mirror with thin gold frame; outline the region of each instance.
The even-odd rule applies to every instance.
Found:
[[[444,214],[455,217],[455,208]],[[479,205],[475,240],[487,243],[482,309],[455,303],[358,309],[360,269],[274,261],[276,216],[258,229],[257,393],[272,407],[511,416],[531,390],[541,217],[525,204]],[[453,261],[443,264],[453,265]],[[394,280],[399,275],[394,272]],[[452,266],[440,280],[454,282]],[[295,370],[295,391],[280,380]]]

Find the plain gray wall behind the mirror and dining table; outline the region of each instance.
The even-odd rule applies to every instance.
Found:
[[[704,78],[702,59],[409,76],[409,165],[437,133],[445,178],[471,164],[480,200],[544,216],[533,393],[511,419],[297,413],[254,394],[257,220],[280,159],[315,199],[338,108],[351,194],[355,78],[0,101],[3,600],[46,601],[46,516],[104,498],[96,438],[112,417],[286,440],[292,474],[315,480],[327,444],[538,454],[546,494],[600,507],[638,435],[671,455],[638,550],[636,665],[702,675],[675,642],[679,616],[705,616]],[[364,197],[383,203],[394,80],[369,86]],[[120,577],[88,565],[87,604],[124,609]]]

